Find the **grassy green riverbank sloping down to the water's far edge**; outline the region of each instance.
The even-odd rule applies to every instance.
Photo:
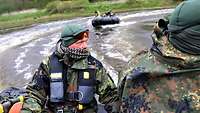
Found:
[[[153,2],[154,1],[154,2]],[[164,2],[165,0],[151,0],[151,3],[95,3],[81,6],[82,8],[77,9],[77,7],[72,7],[70,11],[63,13],[49,14],[45,9],[38,10],[36,12],[19,13],[15,15],[4,15],[0,16],[0,33],[11,32],[17,29],[27,28],[38,23],[72,19],[75,17],[86,17],[94,15],[95,10],[100,10],[105,12],[112,10],[115,13],[139,11],[139,10],[152,10],[152,9],[162,9],[162,8],[172,8],[176,6],[175,2]],[[75,4],[75,6],[78,4]]]

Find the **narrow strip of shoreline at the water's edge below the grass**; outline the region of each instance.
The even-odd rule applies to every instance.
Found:
[[[113,12],[114,13],[138,12],[138,11],[147,11],[147,10],[170,9],[170,8],[174,8],[174,7],[175,6],[172,5],[172,6],[166,6],[166,7],[119,9],[119,10],[114,10]],[[13,25],[12,25],[12,22],[10,22],[10,23],[5,22],[5,24],[2,27],[0,27],[0,34],[5,34],[5,33],[10,33],[13,31],[21,30],[21,29],[30,28],[30,27],[33,27],[33,26],[41,24],[41,23],[62,21],[62,20],[74,19],[77,17],[88,17],[88,16],[93,16],[93,15],[94,14],[86,14],[86,13],[80,14],[79,16],[76,16],[73,14],[72,15],[54,14],[54,15],[49,15],[49,16],[43,16],[37,20],[24,19],[21,22],[19,22],[17,24],[13,24]]]

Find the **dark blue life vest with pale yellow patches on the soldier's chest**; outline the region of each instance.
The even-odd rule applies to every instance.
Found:
[[[97,66],[102,66],[92,56],[88,57],[88,62],[96,62]],[[50,57],[50,102],[65,103],[66,101],[77,102],[77,108],[83,109],[84,104],[89,104],[94,99],[96,85],[96,68],[77,69],[77,91],[67,92],[67,69],[65,64],[60,62],[58,57],[53,54]],[[89,64],[91,65],[91,64]]]

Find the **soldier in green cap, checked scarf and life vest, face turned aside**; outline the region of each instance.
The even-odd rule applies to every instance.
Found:
[[[117,88],[102,64],[87,49],[88,29],[68,24],[56,51],[44,60],[27,86],[23,113],[96,113],[97,101],[108,113],[118,110]]]

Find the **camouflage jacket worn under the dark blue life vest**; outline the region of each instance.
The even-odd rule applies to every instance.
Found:
[[[108,112],[114,112],[116,102],[119,100],[117,94],[117,88],[103,68],[102,64],[89,56],[94,61],[91,65],[88,58],[79,60],[75,62],[70,67],[68,66],[67,71],[67,91],[76,91],[77,90],[77,79],[78,74],[76,70],[80,69],[88,69],[89,66],[94,66],[96,68],[96,86],[95,86],[95,93],[99,95],[99,101],[102,104],[105,104],[105,109]],[[30,113],[30,112],[45,112],[45,107],[48,107],[48,97],[49,97],[49,90],[50,90],[50,57],[45,59],[39,66],[38,70],[35,72],[32,81],[27,85],[27,92],[30,97],[25,100],[23,105],[22,112],[23,113]],[[68,102],[67,102],[68,103]],[[70,102],[69,102],[70,103]],[[69,104],[68,103],[68,104]],[[64,108],[64,112],[66,113],[73,113],[75,112],[76,105],[72,102],[73,105],[66,105]],[[96,113],[97,110],[97,102],[94,99],[89,105],[87,105],[84,113]],[[116,105],[117,106],[117,105]],[[112,109],[113,108],[113,109]]]

